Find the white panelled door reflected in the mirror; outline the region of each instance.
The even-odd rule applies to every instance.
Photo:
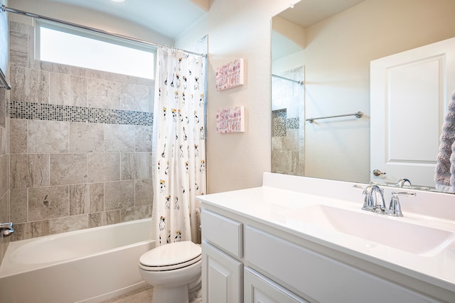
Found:
[[[370,63],[372,182],[434,186],[441,126],[455,89],[455,38]]]

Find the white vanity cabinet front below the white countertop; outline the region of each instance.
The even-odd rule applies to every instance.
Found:
[[[437,302],[267,222],[204,204],[201,221],[204,303]]]

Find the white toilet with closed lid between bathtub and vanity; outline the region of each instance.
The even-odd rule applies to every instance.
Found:
[[[200,285],[202,251],[191,241],[169,243],[141,255],[139,272],[154,287],[152,303],[189,303]]]

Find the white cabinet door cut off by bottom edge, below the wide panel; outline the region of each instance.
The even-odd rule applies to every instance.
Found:
[[[308,303],[272,280],[245,268],[245,303]]]

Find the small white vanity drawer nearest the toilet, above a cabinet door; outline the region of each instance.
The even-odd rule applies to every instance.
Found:
[[[202,237],[218,246],[226,253],[242,258],[242,224],[232,219],[215,214],[213,211],[202,209]],[[204,228],[210,226],[210,228]]]

